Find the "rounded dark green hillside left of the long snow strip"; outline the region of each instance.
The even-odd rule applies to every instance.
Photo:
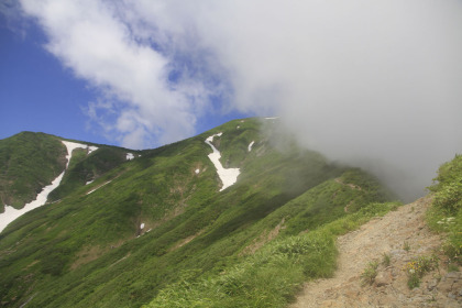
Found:
[[[66,166],[66,147],[58,138],[22,132],[0,140],[0,212],[34,200]]]

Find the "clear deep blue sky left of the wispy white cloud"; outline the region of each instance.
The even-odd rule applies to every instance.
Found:
[[[22,36],[1,16],[0,40],[1,139],[35,131],[106,141],[86,130],[88,119],[81,108],[95,95],[44,51],[45,37],[40,29],[30,26]]]

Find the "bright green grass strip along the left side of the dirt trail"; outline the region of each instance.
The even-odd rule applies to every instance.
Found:
[[[144,307],[284,307],[305,280],[328,277],[336,270],[334,239],[399,204],[371,204],[356,213],[327,223],[312,232],[271,242],[255,254],[215,275],[184,277],[161,290]],[[375,277],[378,263],[367,271]],[[370,273],[371,272],[371,273]]]

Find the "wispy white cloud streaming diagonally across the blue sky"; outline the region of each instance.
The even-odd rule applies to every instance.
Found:
[[[112,125],[99,124],[113,128],[122,145],[140,148],[158,145],[152,141],[191,135],[197,109],[207,106],[204,88],[190,89],[187,78],[180,80],[185,87],[170,82],[169,55],[140,41],[130,21],[119,14],[118,4],[122,2],[22,1],[24,11],[37,18],[45,30],[46,48],[76,76],[101,90],[101,99],[114,101],[110,110],[90,107],[90,116],[107,119],[97,117],[98,112],[117,112]]]

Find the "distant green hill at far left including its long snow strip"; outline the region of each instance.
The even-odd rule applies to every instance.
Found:
[[[22,132],[0,141],[0,232],[25,212],[88,184],[86,178],[95,179],[125,162],[129,154],[44,133]]]

